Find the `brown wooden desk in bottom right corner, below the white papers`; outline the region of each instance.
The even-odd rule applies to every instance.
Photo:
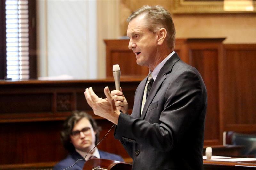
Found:
[[[256,161],[224,162],[203,160],[204,170],[250,170],[256,169]]]

